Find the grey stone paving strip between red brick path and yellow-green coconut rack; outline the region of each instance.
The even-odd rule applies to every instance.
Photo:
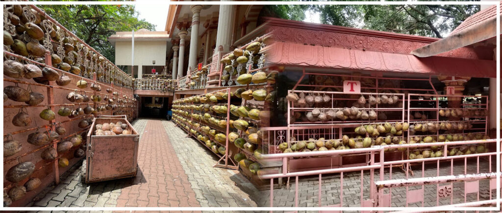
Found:
[[[238,183],[234,183],[236,182],[236,176],[240,174],[237,174],[235,170],[213,167],[218,161],[216,155],[196,139],[186,137],[186,132],[173,122],[162,121],[162,124],[166,132],[169,132],[169,140],[180,159],[183,170],[188,176],[184,184],[191,185],[194,191],[188,196],[189,203],[199,201],[201,205],[223,207],[258,206],[252,199],[254,197],[249,195],[259,193],[258,189],[253,188],[244,191],[237,186]],[[217,194],[217,196],[214,194]]]

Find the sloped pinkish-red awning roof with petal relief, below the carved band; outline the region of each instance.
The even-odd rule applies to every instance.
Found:
[[[495,63],[492,60],[440,56],[419,58],[412,54],[385,53],[289,42],[275,42],[262,51],[268,53],[267,60],[269,63],[287,66],[496,78]]]

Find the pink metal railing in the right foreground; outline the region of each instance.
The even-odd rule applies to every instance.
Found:
[[[433,146],[437,145],[443,148],[443,150],[447,150],[448,147],[455,147],[458,145],[483,145],[483,144],[489,144],[489,143],[495,143],[496,141],[494,139],[489,139],[489,140],[474,140],[474,141],[454,141],[454,142],[436,142],[436,143],[418,143],[418,144],[396,144],[396,145],[388,145],[385,146],[385,148],[420,148],[420,147],[427,147],[427,146]],[[281,154],[269,154],[269,155],[263,155],[264,160],[281,160],[283,162],[283,172],[279,174],[265,174],[261,175],[262,179],[270,179],[271,183],[271,189],[270,189],[270,206],[274,206],[274,189],[273,189],[273,183],[275,178],[283,178],[283,177],[295,177],[295,207],[298,207],[298,202],[299,202],[299,196],[298,196],[298,185],[299,185],[299,177],[300,176],[310,176],[310,175],[318,175],[319,176],[319,192],[318,192],[318,206],[322,206],[322,194],[321,194],[321,188],[322,188],[322,175],[324,174],[333,174],[333,173],[339,173],[340,174],[340,191],[339,197],[340,197],[340,203],[336,205],[330,205],[333,207],[340,207],[343,206],[343,179],[344,179],[344,172],[353,172],[353,171],[359,171],[361,174],[361,185],[360,185],[360,206],[391,206],[392,203],[392,188],[399,186],[400,183],[403,182],[414,182],[416,186],[422,186],[421,189],[418,190],[409,190],[409,185],[402,185],[402,187],[406,187],[406,206],[408,206],[408,203],[413,203],[413,202],[422,202],[422,205],[424,203],[424,185],[426,184],[436,184],[437,185],[437,190],[436,193],[438,194],[437,200],[436,200],[436,205],[439,205],[439,195],[441,193],[446,193],[445,191],[448,191],[448,193],[451,194],[451,200],[450,204],[454,205],[453,203],[453,188],[452,187],[447,187],[446,189],[443,187],[439,187],[439,184],[441,182],[451,182],[451,181],[464,181],[465,177],[470,177],[470,176],[477,176],[477,177],[482,177],[482,175],[468,175],[467,170],[474,169],[473,167],[467,166],[467,159],[475,159],[476,160],[476,167],[475,167],[475,172],[473,174],[480,174],[480,173],[489,173],[489,179],[490,179],[490,184],[489,184],[489,197],[492,197],[492,192],[491,189],[494,189],[496,184],[495,184],[495,179],[491,175],[494,171],[492,170],[492,158],[497,157],[496,152],[485,152],[485,153],[476,153],[476,154],[467,154],[467,155],[453,155],[453,156],[447,156],[446,152],[443,151],[443,156],[439,157],[434,157],[434,158],[422,158],[422,159],[407,159],[407,160],[395,160],[395,161],[388,161],[385,162],[385,148],[384,146],[373,146],[370,148],[362,148],[362,149],[348,149],[348,150],[333,150],[333,151],[317,151],[317,152],[294,152],[294,153],[281,153]],[[333,155],[346,155],[346,154],[361,154],[361,153],[369,153],[369,161],[367,165],[363,166],[353,166],[353,167],[347,167],[347,168],[331,168],[331,169],[320,169],[320,170],[310,170],[310,171],[298,171],[298,172],[289,172],[288,164],[289,160],[291,158],[298,158],[298,157],[319,157],[319,156],[333,156]],[[375,158],[379,157],[378,161],[375,162]],[[454,161],[460,162],[460,160],[463,159],[464,162],[464,170],[461,173],[456,173],[454,172]],[[480,166],[480,160],[486,160],[488,161],[488,168],[486,167],[481,167]],[[425,164],[429,163],[436,163],[436,174],[435,175],[430,175],[426,176],[425,175]],[[450,167],[450,172],[447,175],[440,174],[440,162],[449,162],[449,167]],[[406,179],[393,179],[392,178],[392,169],[393,165],[406,165],[404,172],[406,173]],[[411,166],[421,166],[421,179],[416,179],[416,178],[411,178],[409,179],[409,174],[413,175],[413,172],[411,171]],[[385,173],[386,173],[386,168],[389,171],[389,176],[388,179],[386,180]],[[458,166],[455,166],[455,168],[458,168]],[[374,180],[374,169],[379,169],[379,181]],[[487,171],[480,171],[480,169],[484,169]],[[363,196],[363,179],[364,179],[364,171],[369,171],[369,183],[370,183],[370,188],[369,188],[369,194],[367,196]],[[472,173],[472,172],[471,172]],[[448,176],[449,175],[449,176]],[[447,176],[447,177],[444,177]],[[414,180],[416,179],[416,180]],[[423,181],[422,181],[423,180]],[[432,182],[430,180],[433,180]],[[464,181],[465,182],[465,181]],[[419,184],[417,184],[419,183]],[[393,187],[387,187],[389,193],[384,193],[384,189],[379,188],[377,190],[377,187],[382,187],[383,185],[389,185]],[[453,185],[451,185],[453,186]],[[367,186],[366,186],[367,187]],[[472,193],[472,192],[477,192],[477,202],[481,203],[482,201],[479,200],[479,187],[475,187],[475,183],[472,182],[465,182],[464,184],[464,203],[467,202],[466,200],[466,195],[467,193]],[[440,190],[441,189],[441,190]],[[430,191],[429,191],[430,192]],[[410,196],[410,197],[408,197]],[[369,199],[364,200],[363,197],[369,197]],[[484,203],[484,202],[483,202]]]

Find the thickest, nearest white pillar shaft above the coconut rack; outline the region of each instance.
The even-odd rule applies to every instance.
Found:
[[[219,46],[223,46],[223,51],[229,51],[230,40],[232,39],[233,26],[233,5],[220,5],[218,16],[218,31],[216,34],[216,47],[214,52],[217,53]]]

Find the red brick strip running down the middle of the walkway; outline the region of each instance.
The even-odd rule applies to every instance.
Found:
[[[168,138],[170,132],[165,131],[160,119],[145,120],[147,123],[138,150],[138,166],[141,171],[133,179],[134,185],[123,188],[118,196],[118,199],[127,200],[122,206],[158,206],[159,192],[165,192],[168,183],[188,183],[188,177]],[[159,184],[165,184],[166,187],[159,187]],[[188,193],[195,194],[191,187],[175,187],[175,190],[168,192],[168,197],[179,202],[180,206],[200,206],[198,202],[183,203]],[[161,202],[163,201],[165,203],[165,200]],[[117,206],[121,206],[120,204],[117,203]]]

